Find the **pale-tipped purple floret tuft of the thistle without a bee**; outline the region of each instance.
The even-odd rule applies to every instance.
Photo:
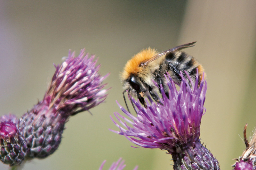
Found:
[[[56,72],[44,96],[47,105],[74,115],[102,103],[107,96],[102,81],[108,74],[101,76],[100,65],[95,66],[97,60],[93,59],[94,56],[88,58],[84,49],[77,57],[69,50],[68,58],[55,66]]]

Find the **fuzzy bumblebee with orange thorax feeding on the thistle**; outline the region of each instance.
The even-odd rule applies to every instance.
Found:
[[[149,47],[134,55],[132,59],[126,63],[121,74],[122,83],[125,89],[123,97],[124,93],[127,91],[128,94],[131,94],[133,97],[138,97],[139,101],[147,107],[143,97],[149,93],[156,102],[160,103],[157,95],[157,91],[160,91],[160,84],[162,84],[164,92],[168,96],[169,88],[164,77],[164,74],[167,72],[175,83],[180,84],[180,72],[186,79],[188,79],[185,71],[188,72],[191,79],[195,82],[197,68],[199,76],[198,84],[200,84],[200,81],[203,78],[203,66],[191,55],[180,51],[181,49],[195,46],[195,43],[196,42],[191,42],[176,46],[162,53],[158,53],[155,49]],[[158,87],[152,80],[157,82]]]

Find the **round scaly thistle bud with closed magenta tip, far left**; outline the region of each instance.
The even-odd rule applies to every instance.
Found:
[[[3,116],[3,120],[8,116]],[[24,136],[20,133],[16,124],[11,119],[13,115],[9,115],[9,120],[0,123],[0,159],[3,163],[10,166],[19,165],[24,160],[27,152],[27,145]]]

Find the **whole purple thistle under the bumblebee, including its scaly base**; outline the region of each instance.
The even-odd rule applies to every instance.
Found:
[[[206,81],[202,80],[200,85],[197,85],[198,72],[196,85],[188,74],[190,82],[182,74],[180,76],[182,82],[179,90],[176,89],[171,77],[169,76],[169,79],[166,77],[169,97],[165,95],[162,85],[160,86],[163,105],[154,103],[148,96],[148,100],[146,100],[148,108],[146,109],[140,102],[136,102],[129,96],[136,106],[137,117],[127,112],[118,103],[120,109],[132,121],[119,113],[114,113],[122,125],[117,124],[110,116],[120,129],[120,131],[111,131],[124,135],[128,140],[141,147],[167,150],[172,154],[174,169],[220,169],[218,161],[201,144],[199,139],[201,118],[204,114]]]

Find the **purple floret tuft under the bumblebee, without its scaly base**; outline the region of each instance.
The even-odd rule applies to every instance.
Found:
[[[137,117],[127,112],[118,104],[120,109],[130,117],[132,121],[119,113],[115,113],[117,120],[123,126],[117,124],[111,117],[113,122],[120,129],[120,131],[114,132],[124,135],[134,144],[144,148],[160,148],[171,152],[177,145],[189,145],[198,140],[200,136],[201,118],[204,114],[206,82],[204,80],[201,81],[198,87],[198,76],[196,77],[196,85],[194,85],[190,79],[192,84],[191,89],[188,80],[186,80],[182,74],[181,77],[182,82],[179,90],[176,89],[171,77],[169,76],[169,78],[167,78],[169,97],[165,95],[161,85],[160,89],[163,95],[163,105],[154,103],[152,99],[148,97],[148,108],[146,109],[132,98],[131,100],[135,104],[136,112],[138,113]],[[131,124],[133,127],[130,127],[127,123]]]

